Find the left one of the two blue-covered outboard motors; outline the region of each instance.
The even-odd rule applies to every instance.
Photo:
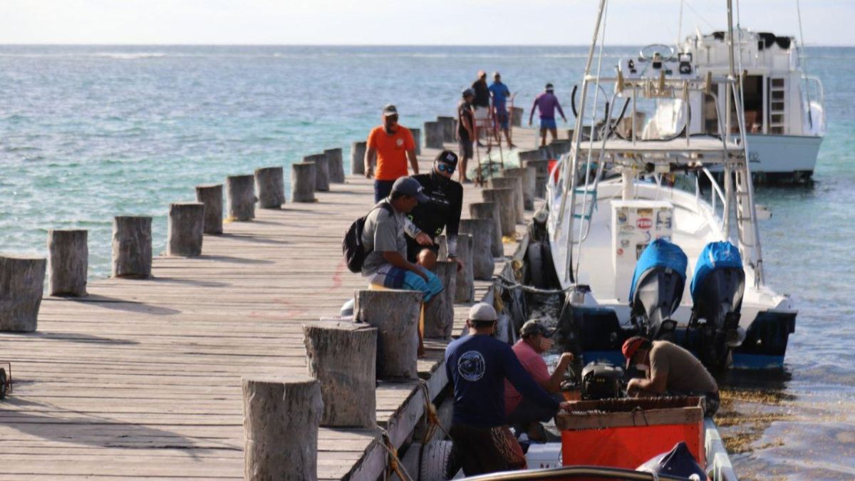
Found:
[[[641,252],[629,289],[630,316],[641,336],[674,341],[677,323],[671,314],[683,297],[687,264],[680,246],[664,239]]]

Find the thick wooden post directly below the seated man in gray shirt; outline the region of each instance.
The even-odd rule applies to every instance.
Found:
[[[353,308],[357,322],[378,330],[377,377],[416,379],[422,293],[384,289],[357,290]]]

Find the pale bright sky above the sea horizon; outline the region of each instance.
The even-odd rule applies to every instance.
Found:
[[[734,0],[734,4],[735,4]],[[587,45],[598,0],[2,0],[0,44]],[[855,0],[802,0],[807,45],[855,45]],[[725,0],[684,2],[682,33]],[[607,43],[675,41],[680,0],[610,0]],[[742,25],[798,35],[795,0],[742,0]]]

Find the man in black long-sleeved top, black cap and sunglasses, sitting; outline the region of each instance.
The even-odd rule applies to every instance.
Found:
[[[420,202],[410,213],[410,220],[418,231],[431,238],[432,243],[422,246],[412,237],[407,237],[407,259],[410,262],[432,269],[436,263],[439,246],[436,237],[445,230],[448,246],[448,259],[457,260],[457,230],[460,228],[460,212],[463,210],[463,186],[451,180],[457,169],[457,154],[441,151],[433,159],[433,169],[429,174],[413,175],[428,196],[427,202]],[[457,260],[458,269],[463,264]]]

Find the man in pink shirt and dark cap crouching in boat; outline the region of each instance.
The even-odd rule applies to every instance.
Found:
[[[516,358],[520,359],[523,369],[528,371],[528,374],[534,378],[536,383],[540,384],[541,388],[560,402],[563,401],[561,382],[564,379],[564,373],[567,372],[567,368],[573,362],[573,354],[561,354],[555,372],[550,374],[546,368],[546,361],[541,354],[551,349],[552,334],[553,332],[547,330],[543,324],[540,324],[540,321],[528,321],[526,324],[522,324],[521,339],[516,341],[513,350],[516,353]],[[514,426],[517,432],[520,430],[528,431],[529,437],[534,432],[540,431],[540,429],[529,429],[531,425],[545,423],[554,414],[547,412],[534,402],[523,399],[522,395],[507,380],[504,382],[504,412],[508,415],[508,424]]]

